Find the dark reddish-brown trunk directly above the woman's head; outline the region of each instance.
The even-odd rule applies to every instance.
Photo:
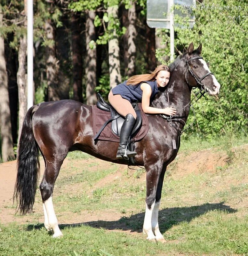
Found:
[[[157,66],[155,52],[155,28],[149,28],[146,24],[146,63],[147,69],[151,71],[153,71]]]

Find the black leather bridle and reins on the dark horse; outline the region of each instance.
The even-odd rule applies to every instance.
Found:
[[[190,58],[189,60],[187,60],[187,59],[186,59],[186,54],[185,54],[185,56],[184,56],[184,60],[185,60],[185,62],[186,62],[186,67],[187,67],[187,68],[186,68],[187,80],[188,80],[188,73],[190,73],[190,75],[195,78],[196,83],[197,83],[197,85],[198,85],[198,86],[196,86],[196,87],[197,87],[200,91],[195,94],[195,97],[194,97],[192,100],[190,100],[190,101],[188,102],[188,104],[186,104],[185,106],[183,106],[182,109],[180,109],[179,111],[177,111],[177,113],[176,113],[175,115],[173,115],[173,116],[160,115],[160,116],[162,116],[164,119],[166,119],[167,122],[171,122],[171,123],[172,123],[172,121],[179,121],[179,122],[180,122],[180,121],[183,121],[183,122],[184,122],[184,120],[182,120],[181,118],[174,118],[174,117],[175,117],[176,115],[178,115],[178,114],[181,112],[181,110],[183,110],[183,109],[185,110],[185,108],[188,107],[188,105],[190,105],[190,107],[192,108],[193,113],[194,113],[194,121],[193,121],[192,124],[190,124],[187,128],[185,128],[182,132],[177,131],[177,133],[178,133],[179,136],[180,136],[183,132],[185,132],[186,130],[188,130],[188,129],[194,124],[194,122],[195,122],[195,120],[196,120],[196,116],[195,116],[195,111],[194,111],[194,108],[193,108],[193,104],[195,104],[196,101],[198,101],[202,96],[204,96],[204,94],[205,94],[205,92],[206,92],[206,86],[205,86],[205,84],[202,84],[201,81],[202,81],[206,76],[213,75],[212,72],[208,72],[207,74],[205,74],[205,75],[202,76],[201,78],[197,77],[196,74],[194,74],[193,70],[190,68],[190,66],[189,66],[189,64],[188,64],[189,61],[191,61],[191,60],[196,60],[196,59],[203,59],[203,57],[197,56],[197,57],[192,57],[192,58]],[[203,81],[203,83],[204,83],[204,81]],[[189,80],[187,81],[187,84],[188,84],[188,86],[189,86]],[[192,87],[192,88],[195,89],[196,87]],[[201,94],[201,95],[195,100],[195,98],[196,98],[199,94]],[[195,100],[195,101],[194,101],[193,103],[191,103],[193,100]],[[185,122],[184,122],[184,124],[186,125]],[[173,125],[173,124],[172,124],[172,125]],[[176,127],[175,127],[174,125],[173,125],[173,127],[176,129]],[[177,129],[176,129],[176,130],[177,130]],[[172,129],[172,135],[173,135],[173,137],[174,137],[173,129]]]

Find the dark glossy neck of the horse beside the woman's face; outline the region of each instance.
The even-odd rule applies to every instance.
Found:
[[[175,118],[180,118],[184,120],[184,122],[187,121],[189,114],[190,106],[188,103],[190,101],[191,93],[191,88],[189,88],[185,80],[185,72],[186,68],[179,64],[172,71],[170,83],[168,84],[167,88],[159,92],[153,101],[154,106],[157,108],[167,108],[169,96],[170,107],[176,108],[177,112],[180,111],[180,113],[176,115]],[[188,106],[186,106],[187,104]],[[178,126],[179,130],[182,130],[183,125],[180,125],[178,122],[173,122],[173,124]]]

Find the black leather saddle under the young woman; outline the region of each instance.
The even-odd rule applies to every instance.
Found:
[[[111,130],[112,130],[112,132],[114,134],[116,134],[117,136],[120,136],[121,127],[122,127],[122,124],[123,124],[123,122],[125,120],[124,117],[120,116],[116,112],[116,110],[108,102],[106,102],[102,98],[100,93],[97,94],[97,98],[98,98],[98,101],[97,101],[96,106],[98,108],[100,108],[101,110],[110,112],[111,113],[111,118],[108,121],[106,121],[105,124],[103,124],[103,126],[100,129],[100,131],[94,137],[94,140],[96,140],[98,138],[98,136],[100,135],[100,133],[102,132],[104,127],[109,122],[111,122],[111,121],[112,121],[112,123],[111,123]],[[133,126],[132,133],[131,133],[131,135],[133,135],[138,130],[138,128],[140,127],[140,125],[142,123],[142,117],[141,117],[140,109],[138,108],[138,103],[137,102],[133,102],[131,104],[132,104],[133,109],[135,110],[136,115],[137,115],[137,119],[136,119],[136,122],[135,122],[135,124]]]

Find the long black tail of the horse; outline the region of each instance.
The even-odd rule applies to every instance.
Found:
[[[23,121],[17,158],[17,178],[13,199],[18,201],[20,214],[32,210],[37,182],[40,174],[39,148],[32,130],[32,116],[35,106],[28,109]]]

